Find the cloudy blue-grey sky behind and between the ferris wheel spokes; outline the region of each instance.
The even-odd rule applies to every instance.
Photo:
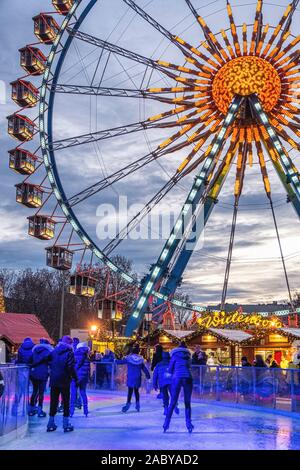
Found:
[[[87,0],[83,0],[83,3],[87,3]],[[139,0],[137,3],[173,33],[184,36],[193,44],[201,42],[201,30],[183,0]],[[1,267],[12,269],[45,265],[44,248],[47,244],[27,235],[26,217],[31,211],[15,203],[14,185],[20,181],[20,176],[8,169],[7,150],[13,148],[15,143],[6,135],[6,116],[16,109],[10,101],[9,83],[23,75],[18,65],[18,49],[34,42],[32,17],[40,11],[51,11],[50,4],[50,0],[0,0],[0,79],[1,90],[4,83],[7,95],[5,100],[2,93],[0,105],[0,252]],[[276,25],[288,1],[265,1],[264,4],[264,22]],[[194,0],[194,5],[214,32],[224,27],[224,21],[227,21],[225,0]],[[233,1],[232,6],[238,24],[253,22],[255,2]],[[57,20],[60,21],[61,18],[58,17]],[[297,11],[294,29],[299,20]],[[144,56],[162,58],[183,65],[178,50],[132,12],[122,0],[99,0],[81,30]],[[43,50],[47,52],[46,48]],[[100,54],[99,48],[74,41],[59,82],[76,85],[93,82],[97,85],[101,81],[102,86],[129,89],[145,87],[146,83],[152,86],[170,85],[170,80],[157,72],[150,74],[150,71],[147,71],[145,74],[143,65],[113,55],[108,57],[107,53],[102,56]],[[38,85],[39,79],[34,79],[34,82]],[[54,140],[128,125],[166,110],[168,105],[136,99],[59,95],[55,102]],[[28,114],[35,117],[34,110]],[[149,130],[58,152],[57,165],[67,195],[76,194],[153,151],[169,135],[169,130]],[[28,144],[28,148],[32,149],[37,146],[37,142]],[[108,240],[99,239],[103,227],[107,224],[110,229],[113,227],[113,211],[110,209],[109,213],[106,213],[108,206],[103,204],[117,210],[120,197],[126,196],[128,206],[134,213],[164,186],[184,156],[185,151],[182,150],[172,157],[162,158],[159,163],[148,165],[112,188],[76,206],[79,220],[100,247],[108,243]],[[299,157],[296,154],[292,154],[292,157],[297,163]],[[296,290],[300,288],[300,224],[293,207],[286,203],[286,194],[274,169],[270,165],[268,169],[291,287]],[[185,272],[182,291],[190,293],[192,300],[196,302],[211,304],[220,300],[231,230],[234,176],[233,168],[205,229],[203,244],[193,254]],[[43,173],[39,173],[35,178],[36,181],[41,181]],[[187,177],[157,206],[156,216],[151,220],[151,240],[124,241],[116,251],[131,258],[141,275],[156,260],[163,244],[163,240],[157,239],[161,228],[155,221],[158,216],[164,218],[166,225],[168,219],[172,221],[172,217],[180,210],[192,181],[193,175]],[[51,201],[49,204],[51,205]],[[50,208],[49,206],[49,210]],[[122,209],[121,221],[125,220],[124,217]],[[142,233],[145,233],[148,222],[146,219],[142,223]],[[264,194],[259,167],[255,164],[253,168],[247,168],[246,172],[238,214],[228,300],[256,303],[286,298],[286,285],[270,206]]]

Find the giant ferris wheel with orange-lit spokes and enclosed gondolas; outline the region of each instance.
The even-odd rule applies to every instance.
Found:
[[[214,31],[203,17],[208,11],[203,2],[180,0],[176,6],[173,2],[171,14],[178,22],[170,31],[164,26],[166,8],[163,16],[156,16],[147,12],[152,3],[154,13],[158,8],[153,1],[143,7],[133,0],[116,1],[126,9],[109,31],[106,19],[111,17],[113,2],[53,0],[55,11],[33,18],[38,43],[20,49],[26,75],[12,83],[12,99],[20,110],[8,117],[8,132],[20,143],[9,151],[9,165],[25,176],[16,185],[17,202],[36,209],[28,217],[29,235],[53,241],[46,249],[47,265],[55,269],[72,269],[73,256],[79,253],[85,268],[71,277],[71,291],[78,295],[95,294],[93,270],[88,267],[95,260],[129,285],[138,286],[126,331],[130,335],[152,298],[156,308],[161,305],[161,314],[170,302],[192,311],[206,310],[206,306],[176,300],[174,294],[193,254],[190,242],[201,236],[235,168],[224,305],[247,168],[257,165],[292,304],[269,168],[279,176],[300,216],[300,176],[291,158],[291,151],[300,149],[300,36],[292,33],[299,0],[286,5],[275,25],[264,21],[264,8],[270,7],[263,0],[254,3],[250,24],[236,22],[237,8],[231,2],[207,2],[207,8],[220,6],[224,24]],[[177,33],[186,19],[189,26]],[[144,33],[149,37],[153,33],[153,42],[142,41]],[[90,113],[84,118],[80,116],[83,98]],[[38,115],[31,116],[36,109]],[[57,117],[63,111],[66,121]],[[147,151],[138,154],[145,147]],[[91,148],[101,166],[100,178],[99,168],[90,162]],[[109,156],[106,161],[104,153]],[[87,220],[90,201],[103,197],[106,202],[105,191],[117,191],[117,184],[134,192],[138,181],[143,191],[146,185],[152,187],[147,175],[158,175],[159,182],[161,173],[167,180],[160,187],[153,184],[142,209],[104,246],[96,243]],[[132,176],[137,178],[134,183]],[[149,274],[139,282],[112,255],[172,191],[185,193],[182,209]],[[201,217],[204,223],[199,229]]]

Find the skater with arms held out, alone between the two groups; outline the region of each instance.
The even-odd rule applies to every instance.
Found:
[[[138,344],[134,345],[131,354],[117,361],[117,364],[127,364],[127,403],[123,406],[122,411],[126,413],[131,406],[131,399],[134,392],[135,395],[135,409],[140,411],[140,393],[139,388],[142,385],[142,372],[150,379],[150,373],[145,366],[144,358],[139,355],[140,347]]]

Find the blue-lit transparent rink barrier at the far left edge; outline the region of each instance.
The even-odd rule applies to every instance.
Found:
[[[4,392],[0,397],[0,446],[19,437],[28,429],[28,381],[26,366],[0,364]]]

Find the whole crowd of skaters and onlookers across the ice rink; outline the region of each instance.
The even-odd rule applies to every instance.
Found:
[[[202,380],[206,373],[206,366],[218,365],[218,358],[211,352],[209,355],[196,346],[194,353],[187,348],[185,342],[170,352],[163,350],[161,345],[155,347],[151,364],[146,364],[140,354],[138,344],[134,344],[129,354],[121,359],[116,359],[112,351],[107,349],[104,354],[92,353],[87,343],[80,342],[78,338],[64,336],[57,345],[53,347],[48,340],[41,338],[39,344],[34,344],[31,338],[25,338],[18,350],[16,364],[27,365],[30,369],[30,382],[32,393],[28,404],[29,416],[45,418],[43,409],[44,394],[49,380],[50,386],[50,410],[47,431],[53,432],[57,429],[55,416],[57,412],[63,412],[64,432],[71,432],[74,427],[70,423],[70,417],[74,415],[75,408],[83,408],[83,413],[88,416],[88,398],[86,393],[87,384],[91,376],[91,362],[101,364],[101,377],[110,383],[111,373],[116,365],[127,366],[127,401],[122,407],[126,413],[135,397],[135,409],[140,411],[140,388],[142,375],[149,381],[150,369],[153,373],[153,388],[159,391],[157,398],[163,402],[165,420],[163,430],[166,432],[170,426],[173,412],[179,413],[178,399],[181,390],[184,396],[185,420],[188,432],[193,431],[191,396],[193,391],[192,365],[205,366],[199,368]],[[242,368],[255,367],[257,374],[266,368],[279,368],[273,355],[263,360],[261,355],[255,356],[251,364],[247,357],[242,357]],[[288,363],[290,369],[299,369],[300,346],[293,355],[292,361]],[[103,367],[104,366],[104,367]],[[212,367],[211,367],[212,368]],[[246,370],[246,369],[245,369]],[[250,371],[250,370],[249,370]],[[258,375],[257,375],[258,377]],[[245,388],[245,387],[244,387]],[[4,391],[4,380],[0,374],[0,396]],[[246,393],[246,392],[244,392]]]

